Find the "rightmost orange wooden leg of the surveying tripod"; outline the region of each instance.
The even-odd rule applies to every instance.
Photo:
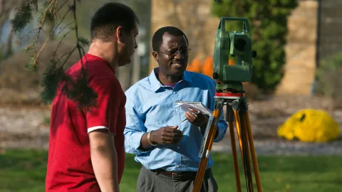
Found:
[[[257,155],[255,154],[254,141],[253,141],[253,135],[252,135],[252,130],[251,130],[251,124],[249,123],[248,111],[244,114],[244,119],[245,119],[246,127],[247,127],[249,148],[251,149],[251,154],[252,154],[252,163],[253,163],[253,168],[254,168],[255,181],[257,182],[258,192],[262,192]]]

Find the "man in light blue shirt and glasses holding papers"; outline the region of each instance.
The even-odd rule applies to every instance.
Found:
[[[184,112],[175,101],[202,102],[214,110],[215,82],[185,70],[190,48],[179,28],[158,29],[152,49],[159,67],[125,92],[125,151],[142,164],[137,191],[192,191],[208,117],[197,109]],[[226,132],[222,115],[214,142]],[[202,191],[217,191],[212,165],[210,156]]]

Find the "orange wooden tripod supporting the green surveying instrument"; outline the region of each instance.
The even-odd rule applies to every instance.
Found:
[[[249,124],[248,104],[242,94],[226,94],[224,96],[215,96],[215,108],[212,117],[207,124],[206,132],[202,142],[202,149],[199,151],[201,161],[195,178],[193,192],[199,192],[202,187],[204,172],[207,168],[209,154],[212,149],[212,142],[217,131],[217,123],[221,115],[224,105],[227,106],[227,122],[229,124],[230,142],[232,144],[232,156],[234,161],[234,174],[237,191],[241,192],[241,183],[239,176],[239,166],[237,161],[237,149],[235,144],[234,124],[237,127],[237,137],[239,139],[239,148],[241,151],[242,164],[244,166],[244,177],[247,184],[247,191],[254,191],[252,170],[249,161],[249,152],[252,155],[252,164],[254,168],[255,181],[257,183],[258,192],[262,191],[259,176],[259,168],[257,156],[255,154],[251,125]]]

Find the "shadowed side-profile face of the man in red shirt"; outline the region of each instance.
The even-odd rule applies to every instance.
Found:
[[[137,41],[135,38],[138,36],[138,23],[135,23],[135,28],[130,31],[130,33],[125,33],[123,31],[123,50],[119,58],[119,66],[127,65],[131,62],[131,57],[135,52],[135,48],[138,48]]]

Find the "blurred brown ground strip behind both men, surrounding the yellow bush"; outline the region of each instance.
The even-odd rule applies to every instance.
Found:
[[[276,129],[294,112],[304,108],[326,109],[326,100],[318,97],[272,97],[249,101],[249,117],[257,154],[342,154],[342,139],[311,144],[286,141]],[[342,110],[331,112],[342,124]],[[0,148],[48,148],[50,109],[46,106],[0,106]],[[239,148],[237,148],[239,151]],[[214,151],[230,152],[229,131]]]

